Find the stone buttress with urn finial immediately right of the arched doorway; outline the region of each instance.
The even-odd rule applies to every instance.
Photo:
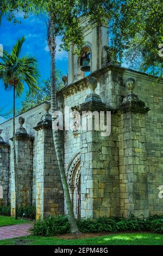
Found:
[[[82,133],[81,133],[81,216],[98,218],[102,216],[117,216],[120,211],[118,191],[118,160],[117,145],[114,142],[115,135],[102,134],[103,129],[99,125],[99,112],[103,111],[106,119],[106,105],[95,93],[97,80],[90,78],[89,87],[91,94],[86,97],[81,105]],[[85,111],[96,111],[93,118],[93,129],[89,131],[88,125],[92,119]],[[113,117],[115,125],[115,117]],[[102,121],[102,117],[100,119]],[[115,122],[115,123],[114,123]],[[111,124],[107,124],[107,130],[111,130]],[[110,126],[110,127],[109,127]]]

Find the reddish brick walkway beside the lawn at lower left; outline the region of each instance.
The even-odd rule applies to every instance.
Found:
[[[0,240],[30,235],[30,227],[32,227],[32,224],[19,224],[0,227]]]

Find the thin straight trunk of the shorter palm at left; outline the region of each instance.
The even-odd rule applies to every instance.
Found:
[[[17,164],[16,164],[16,149],[15,149],[15,89],[13,95],[13,156],[14,156],[14,175],[15,175],[15,220],[17,220]]]

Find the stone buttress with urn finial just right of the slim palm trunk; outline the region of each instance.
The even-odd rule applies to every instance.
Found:
[[[16,161],[17,161],[17,202],[19,206],[32,204],[32,168],[33,168],[33,142],[23,127],[24,118],[18,119],[20,127],[16,130]],[[12,174],[14,177],[14,174]],[[11,215],[15,214],[15,182],[12,180]],[[14,186],[13,186],[14,185]],[[13,191],[14,188],[14,191]]]

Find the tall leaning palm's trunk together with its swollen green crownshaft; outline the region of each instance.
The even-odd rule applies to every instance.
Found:
[[[57,156],[58,166],[61,175],[62,186],[64,189],[64,196],[66,200],[66,206],[68,211],[68,218],[70,223],[70,229],[72,233],[79,234],[77,227],[76,218],[74,217],[73,206],[70,198],[70,192],[68,190],[67,179],[64,168],[64,160],[61,153],[60,139],[58,130],[55,127],[55,117],[53,113],[57,111],[57,79],[56,79],[56,68],[55,68],[55,53],[56,53],[56,35],[55,35],[55,24],[53,19],[48,21],[47,30],[47,42],[49,47],[49,52],[51,54],[51,108],[52,108],[52,130],[53,130],[53,140],[55,153]]]

